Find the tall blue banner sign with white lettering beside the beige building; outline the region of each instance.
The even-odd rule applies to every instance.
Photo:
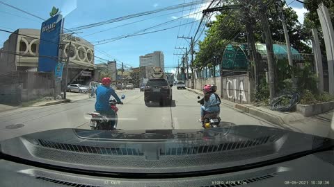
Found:
[[[58,62],[58,46],[62,26],[62,15],[55,15],[42,23],[42,28],[40,28],[40,46],[38,48],[38,71],[54,71]]]

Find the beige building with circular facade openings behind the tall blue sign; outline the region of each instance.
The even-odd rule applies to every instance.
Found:
[[[40,30],[19,28],[3,43],[0,55],[0,73],[10,71],[38,71],[38,48]],[[61,56],[67,58],[72,49],[67,84],[72,82],[86,84],[93,79],[94,46],[85,39],[63,35],[64,48]],[[70,46],[71,42],[71,46]]]

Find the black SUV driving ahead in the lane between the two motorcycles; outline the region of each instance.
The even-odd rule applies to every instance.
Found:
[[[168,85],[164,78],[150,79],[144,89],[145,105],[149,106],[150,101],[159,102],[161,106],[171,105],[173,84]]]

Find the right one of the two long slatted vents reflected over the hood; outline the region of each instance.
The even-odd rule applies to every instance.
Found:
[[[183,155],[183,154],[207,154],[210,152],[222,152],[226,150],[239,150],[243,148],[250,148],[256,145],[263,145],[269,141],[271,136],[263,136],[258,139],[248,141],[234,141],[229,143],[222,143],[217,145],[202,145],[193,147],[179,147],[167,148],[161,150],[160,155]],[[273,141],[272,139],[270,141]]]

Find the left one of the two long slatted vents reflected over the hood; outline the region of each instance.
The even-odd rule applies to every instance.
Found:
[[[56,143],[53,141],[46,141],[42,139],[38,139],[38,142],[45,148],[66,150],[72,152],[85,152],[90,154],[113,154],[113,155],[138,155],[138,156],[144,155],[143,152],[134,148],[95,147],[95,146],[75,145],[68,143]]]

